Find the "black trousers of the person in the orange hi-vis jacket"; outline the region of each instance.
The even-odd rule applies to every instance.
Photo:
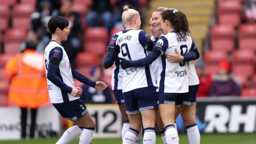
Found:
[[[28,108],[20,108],[21,109],[21,138],[26,138],[27,132],[27,115],[28,115]],[[35,137],[35,127],[36,127],[36,114],[37,114],[37,108],[31,108],[31,125],[30,125],[30,132],[29,137],[34,138]]]

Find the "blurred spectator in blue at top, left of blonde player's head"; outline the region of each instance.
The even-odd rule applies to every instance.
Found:
[[[94,0],[86,16],[87,27],[105,26],[110,33],[113,28],[113,6],[110,0]],[[103,22],[103,23],[102,23]]]

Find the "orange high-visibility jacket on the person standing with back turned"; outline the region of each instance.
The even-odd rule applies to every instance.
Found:
[[[35,50],[15,54],[5,64],[4,75],[11,80],[9,102],[27,108],[38,108],[48,102],[42,54]]]

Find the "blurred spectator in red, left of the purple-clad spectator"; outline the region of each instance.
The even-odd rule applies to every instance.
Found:
[[[196,64],[196,73],[199,78],[199,89],[196,94],[197,97],[208,97],[211,87],[211,75],[204,70],[204,63],[202,59],[198,59]]]

